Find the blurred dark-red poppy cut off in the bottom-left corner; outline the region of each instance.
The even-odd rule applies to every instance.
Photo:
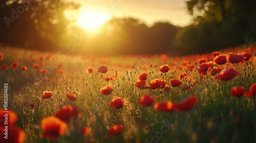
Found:
[[[0,142],[6,143],[23,143],[26,139],[25,131],[16,125],[8,124],[8,139],[5,137],[5,126],[0,126]]]

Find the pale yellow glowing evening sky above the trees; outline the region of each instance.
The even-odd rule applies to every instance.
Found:
[[[141,19],[151,26],[156,21],[168,21],[175,26],[187,26],[190,16],[186,11],[185,0],[66,0],[79,3],[80,25],[92,21],[91,27],[112,16]],[[98,19],[97,19],[98,18]],[[89,20],[91,19],[91,20]],[[93,21],[94,20],[94,21]],[[99,24],[100,25],[100,24]],[[84,26],[84,27],[90,27]]]

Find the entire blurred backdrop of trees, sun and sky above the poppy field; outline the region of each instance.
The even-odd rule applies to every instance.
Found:
[[[0,43],[88,55],[202,54],[255,44],[255,6],[255,0],[1,0]]]

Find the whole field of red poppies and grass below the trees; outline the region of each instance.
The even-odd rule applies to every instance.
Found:
[[[256,142],[255,63],[1,47],[0,142]]]

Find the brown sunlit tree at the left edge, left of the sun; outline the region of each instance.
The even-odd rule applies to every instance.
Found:
[[[60,0],[1,2],[1,37],[6,45],[56,51],[67,40],[69,21],[65,10],[77,9],[74,3]]]

